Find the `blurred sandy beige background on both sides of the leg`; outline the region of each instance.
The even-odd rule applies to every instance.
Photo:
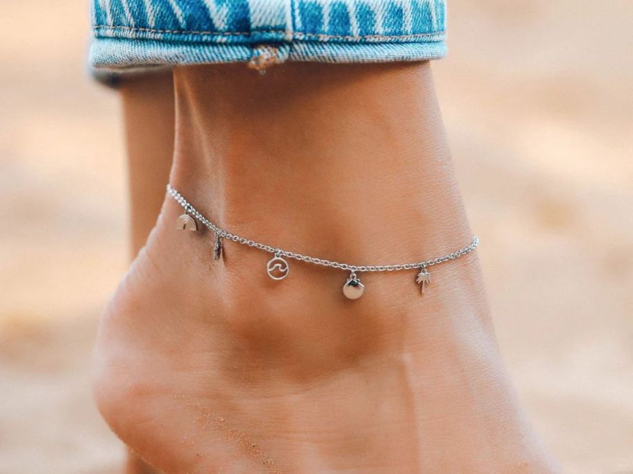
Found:
[[[0,473],[116,473],[90,399],[128,261],[87,2],[0,3]],[[437,89],[501,349],[568,473],[633,473],[633,3],[449,1]]]

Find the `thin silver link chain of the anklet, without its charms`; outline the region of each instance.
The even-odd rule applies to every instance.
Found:
[[[213,222],[205,218],[195,207],[193,207],[187,200],[176,191],[176,189],[171,187],[171,184],[167,184],[167,193],[180,204],[180,206],[185,209],[185,213],[191,214],[199,220],[200,222],[208,227],[216,236],[220,236],[221,238],[226,238],[227,240],[231,240],[235,243],[239,243],[242,245],[248,245],[248,247],[253,247],[255,249],[263,250],[264,252],[268,252],[269,254],[275,254],[276,256],[284,256],[286,258],[292,258],[294,260],[303,261],[307,263],[313,263],[314,265],[321,265],[323,267],[331,267],[338,268],[339,270],[349,270],[351,272],[398,272],[400,270],[413,270],[415,268],[421,267],[432,267],[433,265],[439,265],[440,263],[448,262],[450,260],[455,260],[455,258],[459,258],[462,255],[469,254],[473,252],[474,249],[479,245],[479,239],[477,236],[473,236],[473,240],[471,241],[468,247],[464,247],[463,249],[459,249],[452,254],[444,255],[438,258],[433,258],[432,260],[426,260],[421,262],[414,263],[400,263],[398,265],[351,265],[350,263],[339,263],[335,261],[326,260],[325,258],[316,258],[307,255],[297,254],[295,252],[289,252],[288,250],[282,250],[278,247],[271,247],[270,245],[265,245],[259,242],[255,242],[255,240],[251,240],[250,238],[245,238],[238,236],[237,234],[232,234],[229,231],[224,229],[220,229]]]

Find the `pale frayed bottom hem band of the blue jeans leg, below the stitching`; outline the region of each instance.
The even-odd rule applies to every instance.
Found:
[[[298,62],[396,62],[443,58],[446,44],[434,42],[290,42],[266,44],[276,50],[276,64]],[[99,38],[90,46],[90,64],[97,68],[128,68],[158,64],[248,62],[262,44],[191,44],[161,40]]]

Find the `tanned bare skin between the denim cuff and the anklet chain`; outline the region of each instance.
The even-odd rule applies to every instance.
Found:
[[[428,64],[187,68],[176,102],[171,182],[220,227],[377,265],[471,239]]]

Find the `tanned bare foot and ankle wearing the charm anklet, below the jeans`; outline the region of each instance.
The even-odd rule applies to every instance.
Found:
[[[358,263],[469,243],[427,65],[279,67],[263,80],[177,71],[171,181],[206,216]],[[290,261],[273,281],[269,254],[232,242],[213,261],[212,234],[176,230],[180,213],[167,198],[96,344],[99,408],[147,462],[167,473],[553,471],[505,377],[475,255],[434,267],[425,295],[414,271],[362,274],[351,301],[340,270]]]

